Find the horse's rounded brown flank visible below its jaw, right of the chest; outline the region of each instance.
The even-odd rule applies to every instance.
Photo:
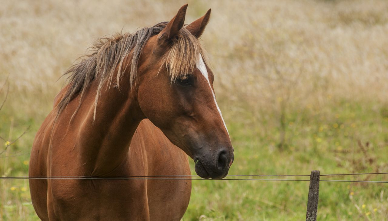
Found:
[[[148,175],[191,175],[185,152],[147,119],[140,122],[133,135],[130,159],[136,157],[140,146],[147,154]],[[147,195],[150,220],[180,220],[189,204],[191,180],[147,180]]]

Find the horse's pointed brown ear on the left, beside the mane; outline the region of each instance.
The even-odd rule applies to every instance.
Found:
[[[166,41],[170,41],[179,33],[179,30],[185,23],[187,4],[180,7],[177,15],[175,15],[166,27],[158,34],[158,43],[163,44]]]

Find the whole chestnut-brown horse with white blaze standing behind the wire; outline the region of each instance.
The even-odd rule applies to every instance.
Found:
[[[29,176],[227,175],[233,148],[198,39],[210,10],[102,38],[36,134]],[[183,150],[183,151],[182,151]],[[185,154],[186,153],[186,154]],[[42,220],[180,220],[190,180],[32,179]]]

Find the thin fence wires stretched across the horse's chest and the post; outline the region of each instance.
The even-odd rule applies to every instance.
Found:
[[[343,173],[323,174],[320,176],[355,176],[355,175],[382,175],[384,173]],[[229,178],[229,177],[310,177],[310,175],[228,175],[222,180],[251,180],[251,181],[310,181],[306,179],[259,179],[259,178]],[[209,180],[198,178],[198,175],[140,175],[140,176],[2,176],[0,180]],[[216,179],[217,180],[217,179]],[[355,182],[355,183],[388,183],[388,181],[374,180],[320,180],[322,182]]]

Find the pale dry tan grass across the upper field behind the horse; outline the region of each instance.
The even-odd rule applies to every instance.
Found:
[[[12,105],[47,113],[56,82],[100,36],[169,20],[177,2],[5,1],[0,8],[0,81],[10,75]],[[255,110],[328,98],[376,99],[388,92],[388,3],[384,1],[189,2],[187,22],[212,8],[203,42],[219,99]],[[254,101],[254,102],[251,102]],[[22,102],[22,103],[21,103]],[[268,105],[270,104],[270,105]],[[42,105],[45,109],[42,109]]]

